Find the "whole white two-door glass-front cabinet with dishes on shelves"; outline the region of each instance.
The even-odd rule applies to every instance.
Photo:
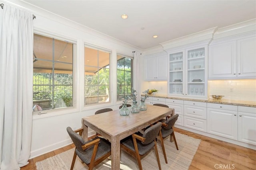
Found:
[[[207,98],[208,46],[168,53],[168,96]]]

